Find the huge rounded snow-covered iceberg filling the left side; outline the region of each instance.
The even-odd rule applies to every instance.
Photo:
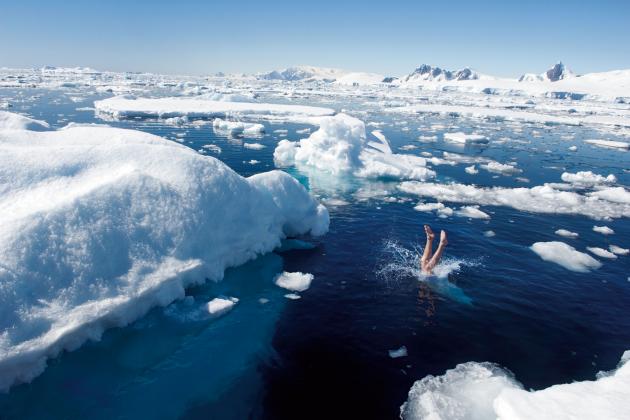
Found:
[[[0,130],[0,192],[0,389],[329,222],[286,173],[108,127]]]

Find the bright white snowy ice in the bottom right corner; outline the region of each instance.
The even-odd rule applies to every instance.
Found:
[[[630,351],[595,381],[526,391],[491,363],[467,362],[417,381],[400,409],[406,420],[622,420],[630,412]]]

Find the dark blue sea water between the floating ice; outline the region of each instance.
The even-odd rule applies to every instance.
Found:
[[[12,111],[55,127],[102,123],[93,112],[76,111],[101,96],[83,95],[74,102],[40,90],[2,95],[12,99]],[[630,185],[630,155],[582,144],[601,137],[589,128],[393,117],[359,102],[336,105],[366,111],[358,115],[366,122],[384,123],[380,128],[393,148],[413,144],[418,149],[407,153],[515,159],[523,170],[519,176],[530,182],[484,171],[472,176],[464,172],[467,165],[436,167],[440,181],[533,186],[559,182],[563,171],[592,170]],[[274,168],[273,150],[285,138],[274,130],[286,129],[286,138],[296,140],[305,136],[296,130],[309,127],[265,123],[264,137],[239,140],[215,133],[211,125],[108,124],[178,139],[195,150],[215,144],[222,152],[208,155],[245,176]],[[474,128],[495,141],[483,148],[415,141],[433,134],[426,132],[432,124],[445,126],[438,132]],[[567,141],[568,135],[574,140]],[[509,140],[501,143],[504,137]],[[267,147],[250,150],[243,141]],[[567,151],[572,144],[578,153]],[[248,163],[252,159],[259,163]],[[179,301],[59,355],[32,383],[0,395],[0,418],[389,419],[398,416],[415,380],[458,363],[496,362],[526,388],[540,389],[593,379],[596,372],[614,368],[630,349],[630,257],[603,261],[591,273],[574,273],[529,249],[534,242],[552,240],[580,250],[609,243],[627,248],[629,220],[605,222],[616,233],[603,236],[592,231],[603,223],[582,216],[507,207],[483,207],[491,214],[488,221],[441,219],[415,211],[417,199],[396,192],[395,181],[331,180],[288,171],[321,199],[347,202],[329,206],[330,232],[309,240],[312,249],[261,256],[228,270],[223,282],[187,292],[197,302],[238,297],[239,304],[222,318],[195,319],[187,302]],[[384,196],[410,200],[388,202]],[[425,223],[449,232],[447,255],[464,262],[461,269],[441,283],[419,281],[403,270],[383,275],[394,258],[387,244],[422,245]],[[579,233],[579,239],[558,237],[554,231],[560,228]],[[487,230],[496,236],[484,236]],[[315,276],[301,299],[286,299],[286,291],[273,284],[282,270]],[[401,346],[408,356],[390,358],[388,351]]]

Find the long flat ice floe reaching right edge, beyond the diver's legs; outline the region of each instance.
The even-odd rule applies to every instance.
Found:
[[[442,202],[483,206],[507,206],[521,211],[551,214],[578,214],[593,219],[630,217],[630,202],[615,202],[601,191],[578,194],[551,185],[532,188],[483,188],[466,184],[436,184],[407,181],[398,188],[410,194],[433,197]]]

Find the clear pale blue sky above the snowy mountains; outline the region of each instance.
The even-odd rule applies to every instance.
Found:
[[[630,0],[0,0],[0,67],[207,74],[309,64],[499,76],[630,68]]]

